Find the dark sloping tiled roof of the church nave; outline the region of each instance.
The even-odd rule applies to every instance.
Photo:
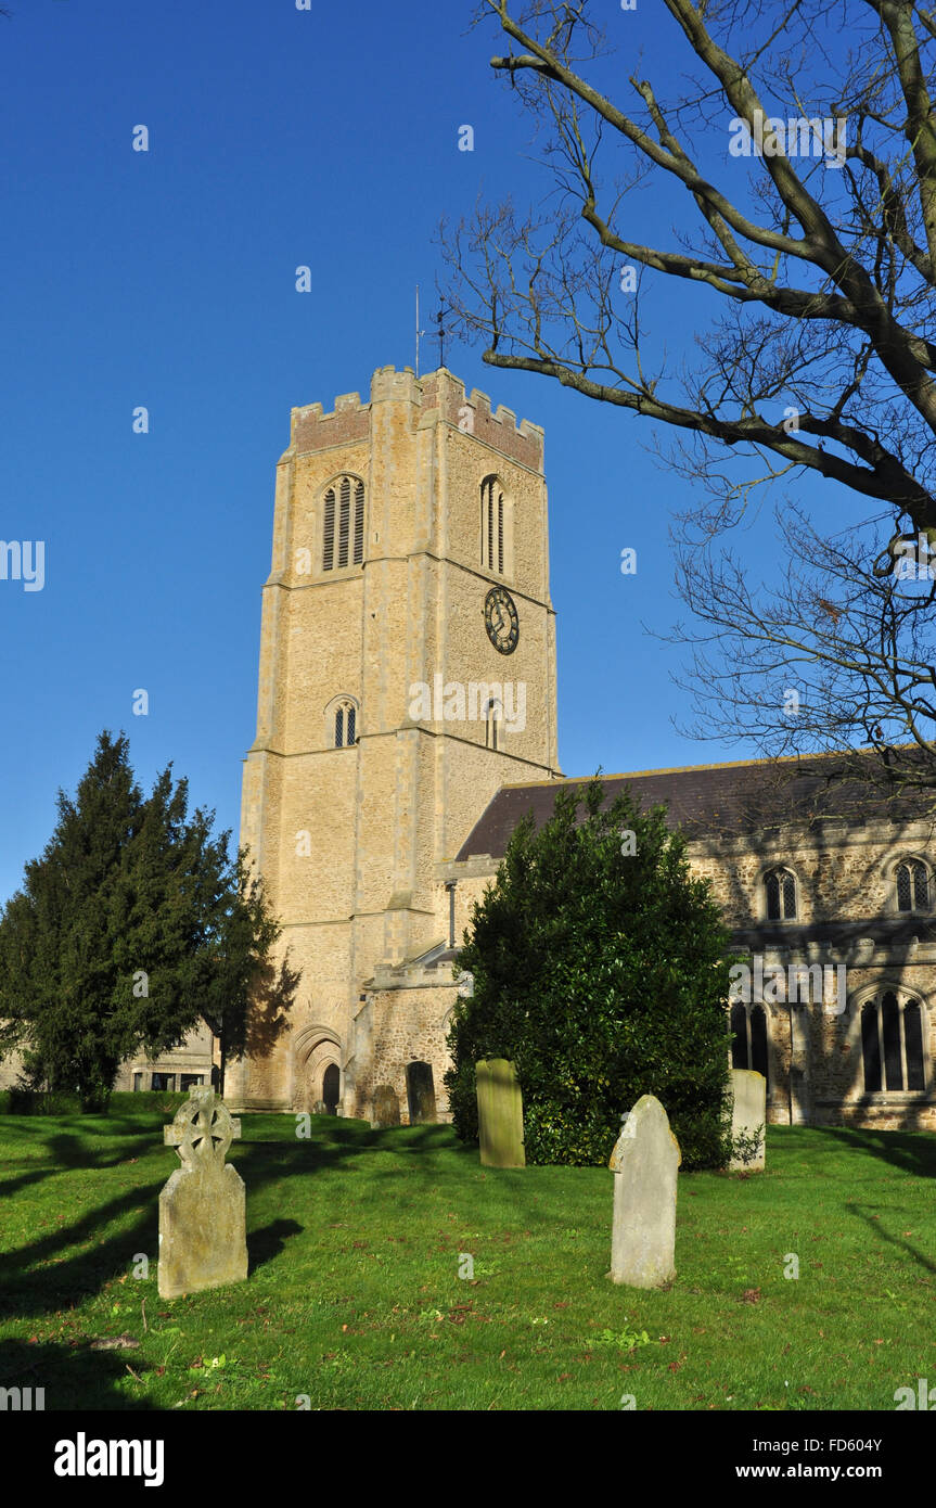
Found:
[[[837,756],[817,756],[650,769],[600,780],[606,804],[622,790],[641,810],[663,802],[669,826],[690,838],[734,837],[787,822],[838,819],[859,825],[868,819],[909,822],[925,814],[919,796],[894,796],[882,787],[837,778],[837,768],[841,771]],[[537,826],[543,826],[553,814],[556,792],[585,784],[576,778],[502,786],[461,844],[457,863],[482,854],[502,858],[520,817],[532,811]]]

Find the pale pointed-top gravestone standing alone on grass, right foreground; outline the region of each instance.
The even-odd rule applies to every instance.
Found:
[[[675,1277],[680,1163],[680,1145],[663,1105],[653,1095],[642,1095],[624,1117],[607,1164],[615,1175],[612,1282],[662,1288]]]

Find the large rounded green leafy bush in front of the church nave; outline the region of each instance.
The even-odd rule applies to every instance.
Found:
[[[622,1111],[653,1093],[683,1169],[722,1167],[728,933],[665,808],[603,804],[594,780],[559,790],[540,831],[523,819],[472,911],[455,968],[473,995],[452,1012],[445,1077],[455,1131],[478,1139],[475,1063],[506,1057],[528,1163],[607,1161]]]

